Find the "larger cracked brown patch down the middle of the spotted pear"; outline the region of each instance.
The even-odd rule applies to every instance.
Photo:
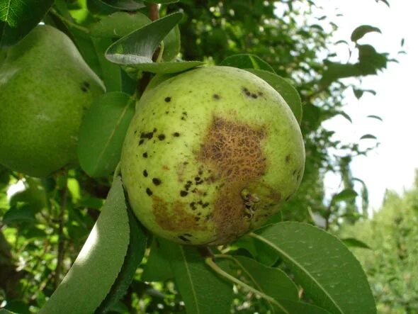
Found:
[[[213,118],[198,156],[225,181],[214,203],[211,220],[216,226],[217,240],[212,245],[230,242],[249,228],[241,191],[264,174],[266,158],[261,142],[265,137],[264,128]]]

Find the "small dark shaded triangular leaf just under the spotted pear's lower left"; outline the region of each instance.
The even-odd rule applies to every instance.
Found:
[[[154,237],[151,247],[149,248],[149,257],[147,264],[144,266],[142,273],[142,281],[166,281],[173,278],[169,259],[166,258],[164,252],[159,245],[159,238]]]

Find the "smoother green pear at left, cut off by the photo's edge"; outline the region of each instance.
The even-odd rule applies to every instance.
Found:
[[[103,91],[67,35],[36,26],[0,67],[0,164],[30,176],[76,164],[81,119]]]

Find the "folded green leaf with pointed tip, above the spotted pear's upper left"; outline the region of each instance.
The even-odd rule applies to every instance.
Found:
[[[106,58],[119,65],[152,63],[152,55],[159,43],[183,16],[176,12],[135,30],[108,47]]]

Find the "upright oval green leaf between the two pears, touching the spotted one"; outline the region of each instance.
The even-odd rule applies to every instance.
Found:
[[[119,91],[103,94],[91,104],[81,123],[77,150],[87,174],[106,176],[113,172],[134,113],[135,100]]]

